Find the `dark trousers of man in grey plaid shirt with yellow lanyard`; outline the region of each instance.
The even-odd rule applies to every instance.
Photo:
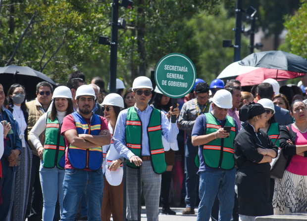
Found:
[[[195,209],[195,204],[199,198],[197,194],[197,183],[199,183],[199,176],[197,175],[198,168],[195,165],[195,156],[198,154],[198,147],[193,146],[190,138],[187,138],[186,145],[186,207]]]

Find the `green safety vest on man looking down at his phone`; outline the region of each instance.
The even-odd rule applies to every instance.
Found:
[[[221,124],[214,118],[211,113],[205,113],[207,123],[205,134],[215,133],[221,128]],[[233,157],[234,144],[233,141],[236,136],[235,123],[232,117],[227,116],[225,126],[230,126],[231,131],[228,138],[213,139],[205,145],[199,146],[203,149],[203,156],[205,159],[205,165],[211,168],[221,168],[224,170],[230,170],[235,166],[235,160]],[[195,157],[195,164],[200,166],[200,158],[197,155]]]

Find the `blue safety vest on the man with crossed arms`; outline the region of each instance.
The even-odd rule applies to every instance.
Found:
[[[98,115],[93,114],[91,125],[78,113],[71,114],[76,125],[78,134],[99,135],[101,130],[101,119]],[[69,144],[68,160],[71,166],[75,169],[83,170],[99,170],[102,165],[102,147],[97,146],[91,149],[82,149]]]

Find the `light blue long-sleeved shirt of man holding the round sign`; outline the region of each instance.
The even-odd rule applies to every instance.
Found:
[[[137,113],[142,121],[142,156],[150,156],[150,149],[149,149],[149,139],[147,134],[147,126],[150,121],[150,117],[153,111],[153,107],[147,105],[147,108],[144,111],[140,111],[136,105],[134,105]],[[128,149],[126,146],[126,138],[125,138],[125,131],[126,131],[126,118],[127,118],[128,110],[123,110],[119,113],[114,134],[114,147],[116,151],[126,159],[130,159],[135,154],[132,153],[131,150]],[[167,140],[167,142],[172,143],[176,140],[177,134],[179,133],[177,123],[170,123],[166,117],[166,115],[161,112],[161,133],[162,136]]]

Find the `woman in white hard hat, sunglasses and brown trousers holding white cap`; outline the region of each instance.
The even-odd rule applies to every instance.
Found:
[[[124,194],[122,162],[124,159],[114,148],[113,132],[119,112],[124,108],[124,100],[119,94],[110,93],[104,97],[102,105],[104,117],[111,133],[111,142],[109,145],[102,146],[104,177],[101,219],[109,221],[112,215],[113,221],[122,221]]]

